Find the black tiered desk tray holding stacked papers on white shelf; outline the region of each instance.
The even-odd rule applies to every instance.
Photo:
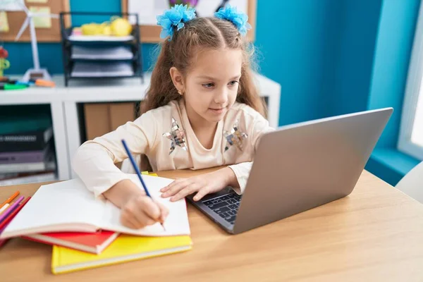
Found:
[[[128,36],[87,36],[75,35],[75,27],[66,26],[66,16],[118,16],[134,17],[130,13],[61,13],[61,34],[63,50],[63,76],[65,86],[69,80],[106,78],[140,78],[144,81],[142,72],[142,51],[140,48],[140,27],[135,24]]]

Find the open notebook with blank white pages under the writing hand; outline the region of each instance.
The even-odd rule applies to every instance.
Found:
[[[135,174],[128,174],[141,188]],[[32,233],[45,232],[96,232],[99,229],[133,235],[166,236],[190,235],[185,200],[170,202],[161,198],[159,191],[173,180],[157,176],[143,176],[149,192],[169,209],[164,222],[166,231],[159,223],[141,229],[123,226],[121,210],[102,198],[94,198],[80,179],[42,185],[25,207],[8,224],[0,238],[11,238]]]

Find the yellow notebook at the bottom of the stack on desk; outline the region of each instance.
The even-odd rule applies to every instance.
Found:
[[[92,269],[99,266],[183,252],[191,248],[192,240],[188,235],[142,237],[122,234],[100,255],[54,245],[51,257],[51,272],[61,274],[81,269]]]

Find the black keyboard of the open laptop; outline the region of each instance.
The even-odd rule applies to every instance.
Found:
[[[238,208],[240,207],[241,196],[235,192],[216,197],[207,201],[203,201],[209,209],[212,209],[216,214],[222,219],[225,219],[229,223],[233,224],[235,222],[236,214]]]

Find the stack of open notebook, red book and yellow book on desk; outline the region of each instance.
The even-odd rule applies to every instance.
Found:
[[[139,183],[137,176],[128,176]],[[185,200],[159,199],[159,190],[172,180],[154,175],[145,175],[144,180],[150,193],[169,210],[166,229],[160,223],[137,230],[123,226],[120,209],[96,199],[81,180],[73,179],[42,185],[0,231],[0,240],[20,237],[52,245],[53,274],[190,250]]]

